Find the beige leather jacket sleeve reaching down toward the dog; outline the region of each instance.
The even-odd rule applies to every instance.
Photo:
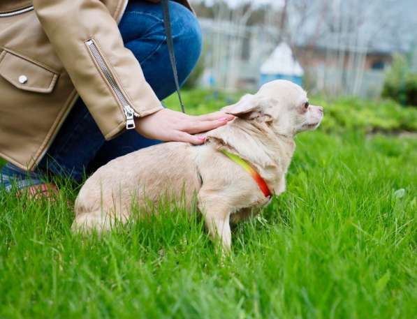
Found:
[[[126,49],[115,18],[99,0],[34,0],[34,9],[64,68],[110,140],[136,117],[162,108],[133,53]]]

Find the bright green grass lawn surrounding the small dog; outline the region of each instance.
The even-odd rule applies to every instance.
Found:
[[[191,112],[228,100],[206,95],[186,94]],[[286,193],[234,228],[225,259],[180,207],[80,237],[76,186],[54,203],[0,191],[0,318],[417,318],[417,139],[397,136],[417,110],[317,101]]]

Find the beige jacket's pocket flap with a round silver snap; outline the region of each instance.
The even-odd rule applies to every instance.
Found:
[[[5,49],[0,54],[0,76],[24,91],[51,93],[58,74],[27,57]]]

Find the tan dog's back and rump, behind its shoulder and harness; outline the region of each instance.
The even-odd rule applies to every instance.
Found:
[[[182,142],[157,144],[99,168],[78,194],[73,227],[96,228],[100,223],[108,228],[113,218],[124,221],[132,205],[142,207],[161,195],[191,200],[200,188],[191,147]],[[103,216],[108,221],[105,225]]]

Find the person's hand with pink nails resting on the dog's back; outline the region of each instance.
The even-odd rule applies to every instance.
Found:
[[[136,131],[145,138],[203,144],[205,138],[192,134],[218,128],[233,118],[233,115],[223,111],[192,116],[164,108],[146,117],[136,118],[135,124]]]

